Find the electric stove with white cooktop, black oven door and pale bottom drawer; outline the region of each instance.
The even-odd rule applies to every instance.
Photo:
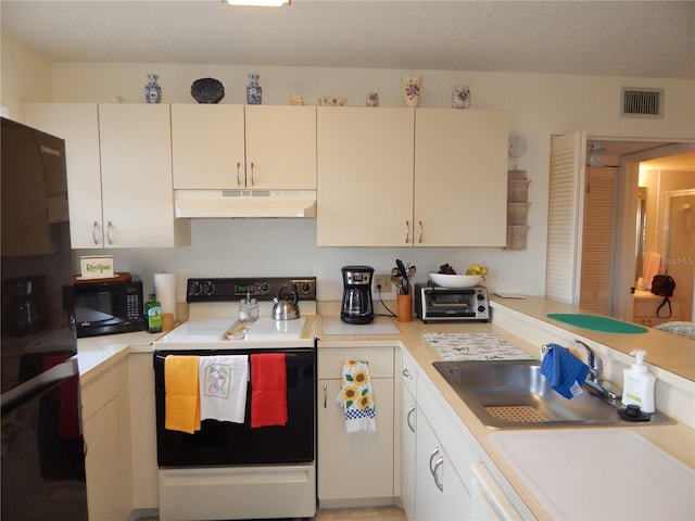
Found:
[[[298,290],[301,317],[274,320],[271,298],[286,284]],[[239,301],[247,296],[260,302],[261,316],[238,323]],[[316,279],[189,279],[187,301],[190,319],[154,343],[160,519],[313,517],[316,339],[311,332]],[[248,385],[239,387],[237,382],[237,390],[247,394],[243,420],[203,419],[194,432],[168,429],[167,407],[173,406],[167,401],[167,378],[175,377],[166,372],[167,359],[186,357],[187,363],[206,367],[212,357],[225,356],[249,365]],[[258,427],[252,421],[254,396],[263,383],[255,379],[268,359],[282,364],[286,418]]]

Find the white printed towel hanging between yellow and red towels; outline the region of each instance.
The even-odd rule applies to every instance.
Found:
[[[198,364],[200,419],[243,423],[249,355],[201,356]]]

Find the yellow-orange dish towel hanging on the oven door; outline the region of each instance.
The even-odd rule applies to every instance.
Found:
[[[198,356],[164,359],[165,429],[189,434],[200,431],[198,366]]]

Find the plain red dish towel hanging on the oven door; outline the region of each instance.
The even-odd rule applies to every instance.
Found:
[[[251,427],[287,424],[283,353],[251,355]]]

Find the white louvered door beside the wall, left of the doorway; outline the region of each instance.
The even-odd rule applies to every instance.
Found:
[[[545,296],[579,304],[578,263],[581,230],[586,132],[554,137],[551,141]]]

